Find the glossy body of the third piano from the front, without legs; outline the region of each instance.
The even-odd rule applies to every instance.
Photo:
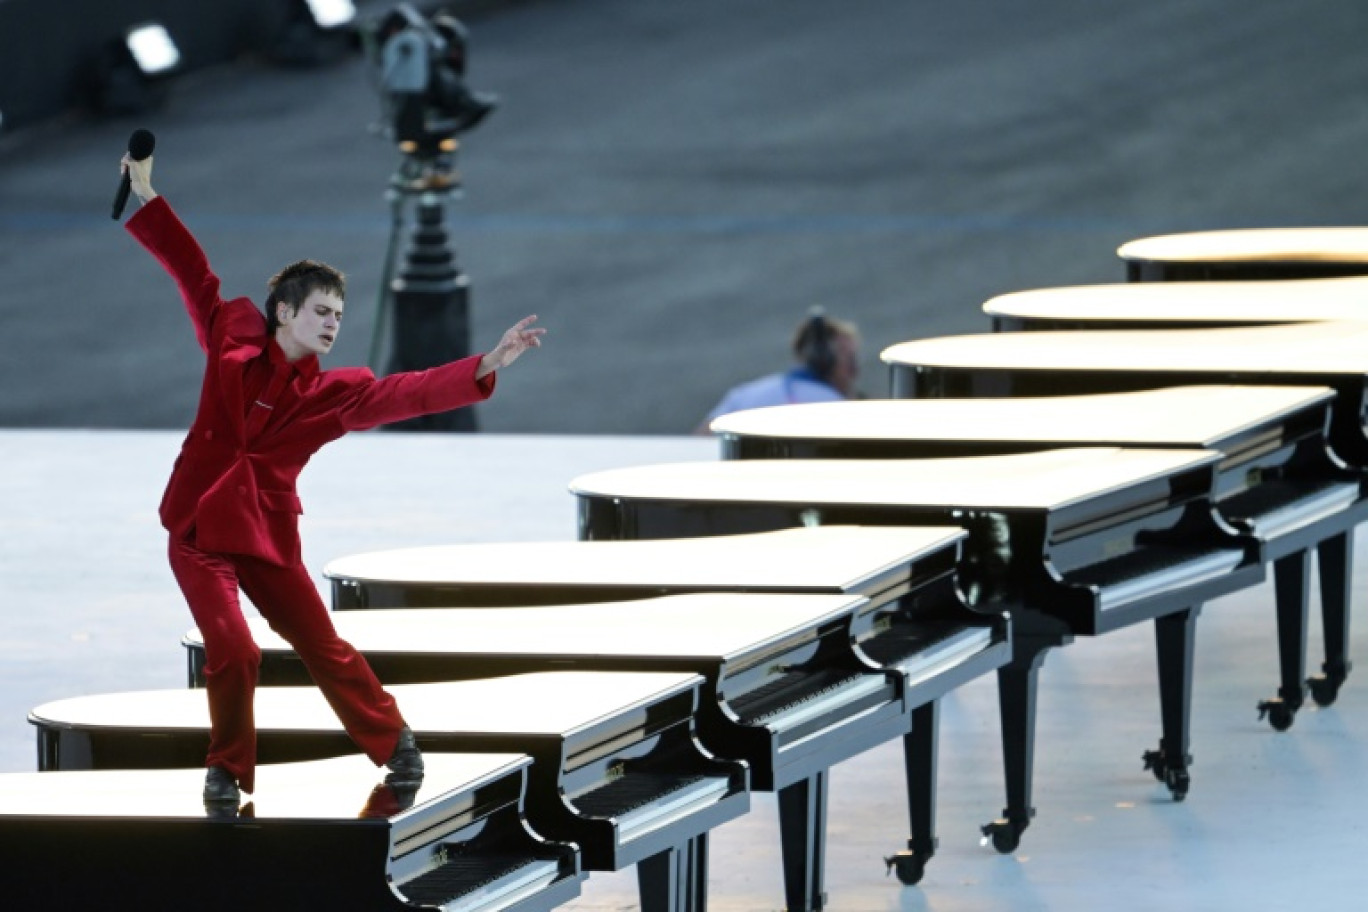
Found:
[[[746,760],[751,786],[770,792],[793,779],[793,755],[803,770],[818,757],[830,766],[906,730],[902,680],[855,645],[852,623],[863,603],[841,595],[706,593],[581,606],[401,608],[339,613],[338,629],[386,682],[565,669],[699,674],[703,745]],[[263,645],[268,682],[308,681],[269,628],[253,625],[253,636]],[[803,706],[782,711],[798,703]]]

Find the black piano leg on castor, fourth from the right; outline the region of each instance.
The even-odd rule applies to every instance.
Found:
[[[1025,613],[1018,613],[1021,615]],[[1018,632],[1012,636],[1012,660],[997,670],[1007,807],[1001,818],[984,824],[979,831],[1003,855],[1016,850],[1022,833],[1036,816],[1030,804],[1031,777],[1036,774],[1036,690],[1045,652],[1055,645],[1062,645],[1062,641]]]

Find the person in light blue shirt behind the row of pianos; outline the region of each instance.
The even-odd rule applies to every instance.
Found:
[[[713,418],[731,412],[856,397],[859,331],[854,323],[833,320],[814,308],[793,332],[793,357],[798,366],[728,390],[695,433],[707,433]]]

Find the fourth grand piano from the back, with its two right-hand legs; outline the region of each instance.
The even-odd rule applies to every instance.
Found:
[[[1120,286],[1150,287],[1150,286]],[[1157,286],[1155,286],[1157,287]],[[1215,286],[1213,286],[1215,287]],[[1334,703],[1349,671],[1353,529],[1364,474],[1331,457],[1324,387],[1170,387],[1019,399],[867,399],[754,409],[713,421],[732,459],[928,458],[1057,447],[1207,448],[1223,458],[1216,509],[1254,535],[1274,567],[1280,686],[1259,704],[1287,729],[1305,688]],[[1323,674],[1306,681],[1309,552],[1321,555]]]

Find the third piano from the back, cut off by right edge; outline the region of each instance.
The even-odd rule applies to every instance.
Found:
[[[1178,386],[1315,386],[1335,391],[1330,446],[1368,466],[1368,324],[1224,330],[993,332],[918,339],[881,354],[895,399],[1126,392]]]

